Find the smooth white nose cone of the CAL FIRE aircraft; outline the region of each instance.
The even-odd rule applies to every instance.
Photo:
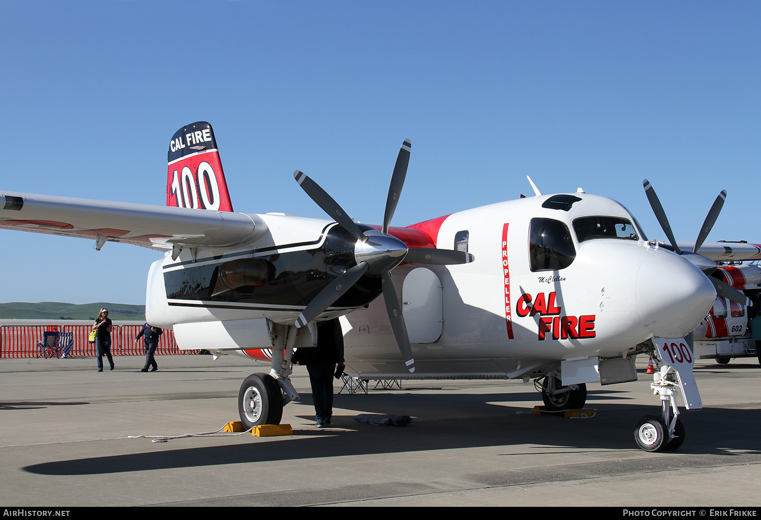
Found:
[[[683,338],[705,317],[716,290],[708,277],[684,258],[666,251],[656,253],[637,272],[637,309],[654,335]]]

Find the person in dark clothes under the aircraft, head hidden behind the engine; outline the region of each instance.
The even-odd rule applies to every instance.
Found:
[[[338,319],[317,325],[317,346],[296,350],[294,363],[307,366],[317,420],[314,426],[328,426],[333,417],[333,374],[342,373],[345,368],[343,333]]]

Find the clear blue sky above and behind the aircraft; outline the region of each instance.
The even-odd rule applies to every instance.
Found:
[[[759,2],[0,0],[0,187],[164,205],[166,153],[212,123],[236,211],[323,217],[303,170],[394,225],[529,195],[607,195],[663,238],[761,243]],[[161,257],[0,230],[0,301],[145,303]]]

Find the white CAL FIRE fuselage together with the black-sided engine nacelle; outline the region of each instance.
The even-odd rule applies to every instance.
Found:
[[[260,329],[266,320],[292,323],[356,265],[354,239],[328,220],[256,217],[268,233],[250,249],[199,255],[195,262],[183,252],[156,262],[148,320],[176,331],[189,322],[251,320]],[[689,334],[715,299],[705,275],[648,243],[626,208],[599,195],[523,198],[413,227],[438,249],[473,255],[461,265],[407,263],[392,271],[416,376],[518,376],[560,360],[625,356],[653,336]],[[403,374],[383,299],[376,300],[380,290],[380,277],[366,274],[320,320],[345,315],[353,372]],[[182,348],[272,347],[263,333],[244,344],[181,338]]]

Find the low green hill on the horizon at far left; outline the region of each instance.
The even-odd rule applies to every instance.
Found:
[[[113,320],[134,319],[145,321],[145,305],[123,303],[11,302],[0,303],[0,319],[95,319],[100,309],[108,309]]]

